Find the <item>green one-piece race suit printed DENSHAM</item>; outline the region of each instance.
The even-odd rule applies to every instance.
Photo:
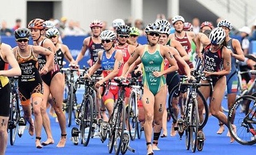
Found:
[[[157,45],[154,53],[148,52],[148,45],[145,46],[143,55],[141,57],[143,64],[143,83],[155,95],[158,93],[160,87],[166,84],[164,75],[155,77],[152,72],[164,70],[164,58],[160,54],[160,46]]]

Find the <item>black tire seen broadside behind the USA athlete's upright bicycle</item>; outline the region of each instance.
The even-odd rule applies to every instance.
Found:
[[[169,98],[168,98],[168,108],[170,110],[170,114],[171,114],[171,117],[173,119],[173,122],[176,123],[177,122],[177,119],[178,118],[181,118],[181,113],[179,113],[178,117],[175,116],[175,113],[174,113],[174,109],[172,109],[172,98],[175,98],[174,97],[174,94],[176,93],[176,96],[180,96],[180,93],[178,91],[179,89],[179,85],[175,85],[174,88],[172,88],[170,94],[169,94]],[[197,90],[197,94],[198,96],[200,96],[200,98],[203,100],[203,104],[204,104],[204,109],[205,109],[205,114],[204,114],[204,120],[202,123],[200,123],[199,125],[199,130],[203,129],[205,124],[207,123],[208,121],[208,117],[209,117],[209,109],[208,109],[208,104],[207,104],[207,101],[205,100],[203,94]],[[175,99],[177,100],[177,99]]]

